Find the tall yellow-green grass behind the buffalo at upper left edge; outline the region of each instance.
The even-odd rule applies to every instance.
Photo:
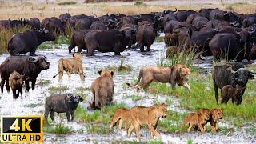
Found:
[[[22,33],[26,30],[30,30],[30,27],[20,26],[20,27],[15,27],[10,30],[7,30],[7,29],[0,30],[0,54],[7,52],[8,40],[14,34]]]

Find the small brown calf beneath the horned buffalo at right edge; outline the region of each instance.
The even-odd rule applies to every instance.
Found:
[[[245,87],[242,86],[231,86],[226,85],[222,87],[222,103],[227,103],[229,99],[232,99],[232,103],[236,103],[237,105],[242,102],[242,92],[245,90]]]

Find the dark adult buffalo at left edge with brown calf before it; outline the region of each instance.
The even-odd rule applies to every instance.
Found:
[[[0,65],[1,91],[3,92],[3,86],[6,82],[6,90],[10,91],[9,76],[12,72],[17,71],[19,74],[25,75],[26,90],[30,90],[29,82],[32,82],[32,90],[34,90],[35,82],[38,78],[38,74],[42,70],[49,69],[50,62],[46,61],[46,57],[39,56],[33,58],[27,55],[10,56],[6,58]]]

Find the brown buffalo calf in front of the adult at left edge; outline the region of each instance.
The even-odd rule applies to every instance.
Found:
[[[9,85],[11,90],[13,90],[13,98],[17,99],[19,93],[22,95],[22,85],[24,84],[24,75],[19,74],[17,71],[14,71],[10,74]],[[18,90],[18,93],[16,91]]]

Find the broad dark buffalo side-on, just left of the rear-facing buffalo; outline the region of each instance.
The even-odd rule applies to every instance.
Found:
[[[87,46],[87,56],[94,55],[98,50],[102,53],[114,52],[120,55],[128,44],[126,34],[119,30],[92,30],[86,34],[85,42]]]

